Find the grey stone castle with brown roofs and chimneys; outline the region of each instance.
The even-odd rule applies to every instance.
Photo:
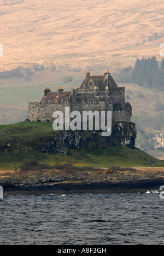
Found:
[[[86,72],[84,82],[80,88],[74,87],[71,91],[64,91],[59,87],[57,92],[45,88],[40,102],[29,103],[30,121],[54,121],[52,114],[60,110],[65,113],[65,107],[70,111],[95,110],[112,111],[112,121],[131,121],[132,107],[125,102],[125,87],[118,87],[107,70],[104,75],[91,75]]]

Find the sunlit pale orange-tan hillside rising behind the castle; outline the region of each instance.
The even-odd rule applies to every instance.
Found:
[[[102,71],[159,55],[163,1],[1,0],[1,71],[38,63]]]

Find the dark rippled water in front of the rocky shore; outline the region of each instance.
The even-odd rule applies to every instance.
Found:
[[[1,245],[164,245],[159,194],[7,196]]]

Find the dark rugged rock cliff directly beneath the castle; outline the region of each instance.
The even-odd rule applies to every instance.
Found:
[[[107,149],[112,146],[134,148],[137,136],[136,125],[132,122],[118,122],[112,124],[112,134],[101,136],[101,131],[60,131],[52,137],[46,147],[40,149],[43,153],[65,153],[69,149]]]

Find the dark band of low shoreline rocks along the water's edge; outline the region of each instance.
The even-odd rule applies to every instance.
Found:
[[[106,176],[106,177],[105,177]],[[154,174],[143,176],[124,174],[104,174],[89,179],[85,172],[73,174],[40,174],[38,177],[0,179],[0,185],[6,195],[41,195],[41,194],[113,194],[145,193],[159,190],[164,185],[163,177]]]

